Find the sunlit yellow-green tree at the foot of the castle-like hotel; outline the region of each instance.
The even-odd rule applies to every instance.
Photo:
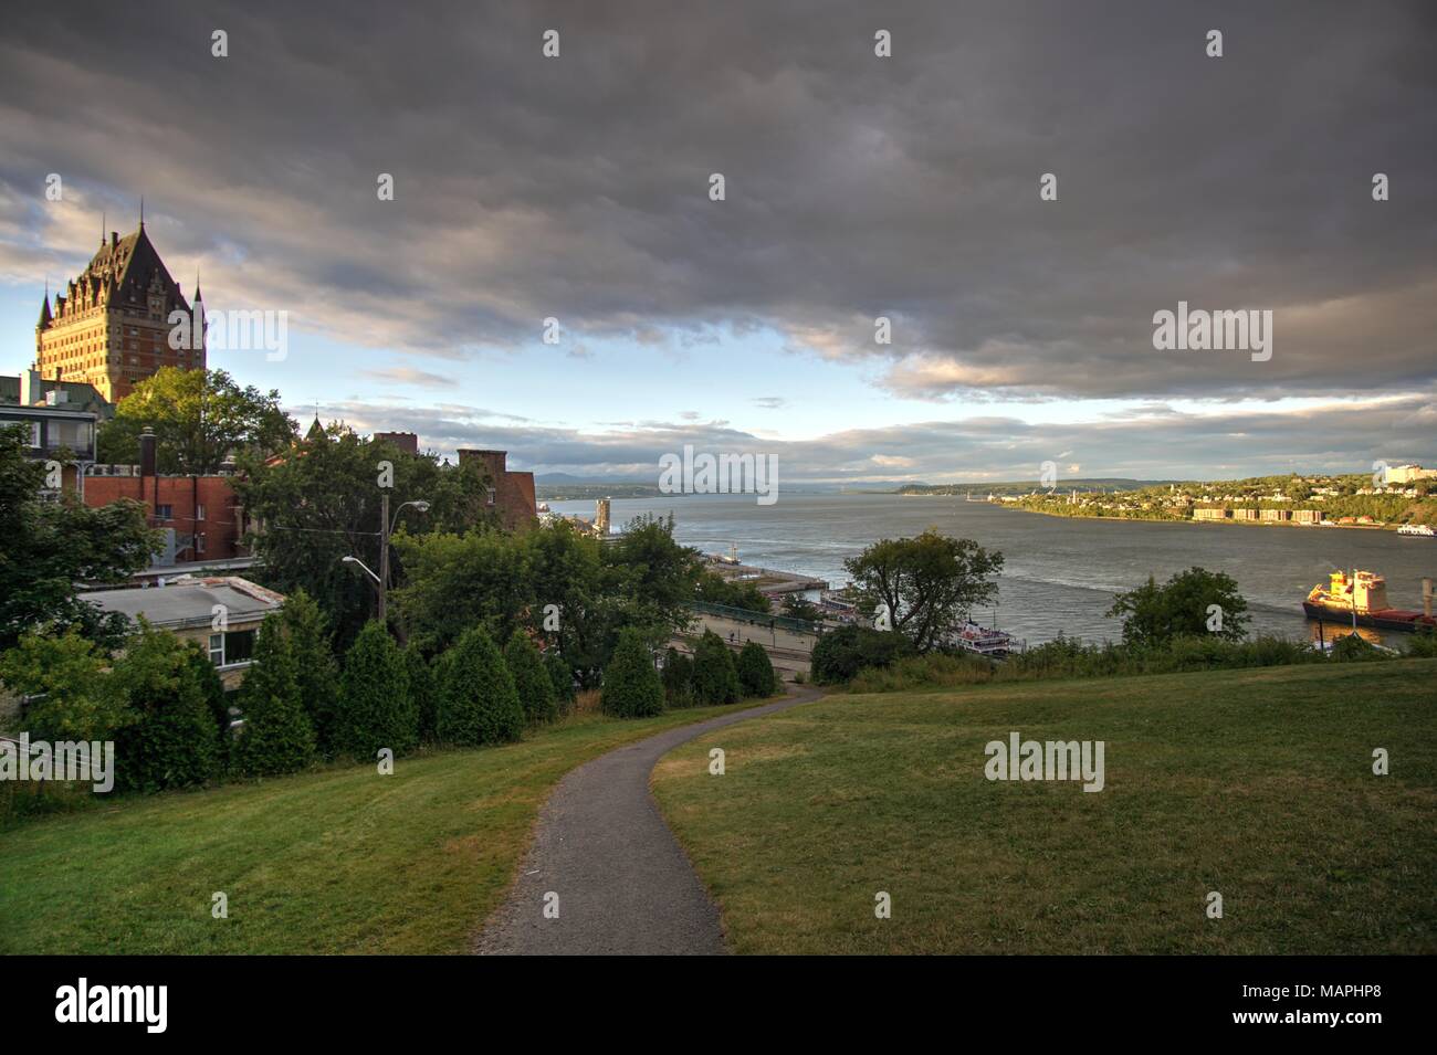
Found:
[[[280,409],[277,390],[240,388],[224,370],[175,366],[137,382],[115,405],[114,419],[96,438],[101,461],[138,462],[145,428],[155,433],[160,472],[187,477],[217,472],[231,451],[269,456],[297,435],[293,419]]]

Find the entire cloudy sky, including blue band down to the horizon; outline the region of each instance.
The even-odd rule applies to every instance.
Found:
[[[1433,4],[253,7],[7,13],[0,370],[144,197],[187,294],[285,313],[213,367],[447,455],[1437,464]],[[1180,301],[1270,311],[1270,357],[1155,347]]]

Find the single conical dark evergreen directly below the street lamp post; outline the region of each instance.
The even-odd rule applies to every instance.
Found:
[[[395,756],[420,741],[420,718],[410,699],[404,653],[378,620],[365,624],[345,656],[339,682],[335,749],[372,759],[381,748]]]

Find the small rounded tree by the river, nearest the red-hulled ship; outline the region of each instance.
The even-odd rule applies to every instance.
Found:
[[[1213,606],[1217,606],[1214,610]],[[1129,646],[1161,646],[1184,634],[1213,634],[1242,640],[1247,601],[1237,581],[1223,571],[1191,567],[1158,586],[1152,576],[1137,590],[1114,597],[1109,616],[1122,617],[1122,640]]]

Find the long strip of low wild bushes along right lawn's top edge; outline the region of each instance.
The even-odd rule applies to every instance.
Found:
[[[1414,636],[1405,655],[1437,656],[1437,637],[1430,633]],[[1073,637],[1058,637],[999,663],[966,652],[917,656],[897,633],[842,627],[815,646],[813,676],[829,685],[848,685],[852,692],[898,692],[983,682],[1161,675],[1394,657],[1395,653],[1377,649],[1355,634],[1339,637],[1328,655],[1306,642],[1286,637],[1260,636],[1230,642],[1216,636],[1184,634],[1151,646],[1111,642],[1083,644]]]

